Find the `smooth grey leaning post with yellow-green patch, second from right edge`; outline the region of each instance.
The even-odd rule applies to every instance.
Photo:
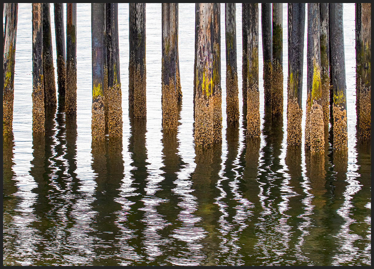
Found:
[[[347,134],[347,85],[344,58],[343,4],[330,3],[332,85],[334,87],[334,149],[348,149]]]

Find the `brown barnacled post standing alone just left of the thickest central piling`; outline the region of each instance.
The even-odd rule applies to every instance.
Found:
[[[162,4],[162,128],[177,129],[177,45],[176,6]]]

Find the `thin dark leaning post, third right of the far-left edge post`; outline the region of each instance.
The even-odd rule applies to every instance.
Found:
[[[54,3],[54,13],[57,55],[57,91],[59,100],[63,100],[65,102],[66,50],[64,31],[64,6],[62,3]]]

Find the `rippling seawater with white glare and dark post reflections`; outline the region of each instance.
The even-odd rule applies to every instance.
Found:
[[[227,128],[221,4],[223,142],[194,147],[194,8],[179,5],[183,104],[178,131],[164,133],[161,4],[146,5],[146,122],[128,116],[129,11],[119,4],[123,138],[100,144],[91,141],[91,4],[77,4],[76,120],[57,107],[40,138],[31,132],[31,4],[19,3],[13,137],[3,140],[3,265],[371,265],[371,144],[356,138],[354,4],[344,4],[349,149],[333,152],[330,125],[319,158],[286,145],[287,4],[283,119],[264,119],[259,5],[261,139],[246,141],[242,102],[240,125]],[[55,40],[53,5],[51,20]]]

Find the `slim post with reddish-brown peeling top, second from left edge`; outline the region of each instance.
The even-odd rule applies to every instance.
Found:
[[[44,133],[43,6],[33,3],[33,132]]]

